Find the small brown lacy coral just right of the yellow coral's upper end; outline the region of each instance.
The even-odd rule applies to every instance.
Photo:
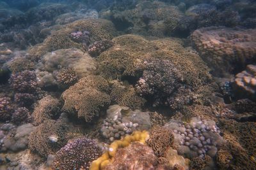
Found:
[[[173,146],[174,136],[170,129],[156,126],[152,129],[146,143],[150,146],[157,157],[165,157],[168,148]]]

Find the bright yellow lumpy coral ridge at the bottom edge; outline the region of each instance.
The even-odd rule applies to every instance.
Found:
[[[111,158],[114,157],[116,150],[118,148],[124,148],[128,146],[130,143],[134,141],[140,141],[141,143],[145,144],[146,139],[148,138],[148,132],[147,131],[135,131],[132,133],[132,135],[125,136],[124,139],[114,141],[109,146],[109,150],[106,153],[103,153],[99,159],[94,160],[92,162],[92,165],[90,166],[90,170],[99,170],[104,169],[107,164],[111,161]]]

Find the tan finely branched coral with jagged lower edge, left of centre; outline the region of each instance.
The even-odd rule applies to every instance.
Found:
[[[100,76],[82,78],[63,92],[62,98],[65,101],[63,109],[90,122],[99,114],[101,108],[110,104],[110,97],[106,94],[108,89],[108,81]]]

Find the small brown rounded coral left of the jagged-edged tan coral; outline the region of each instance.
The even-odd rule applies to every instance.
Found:
[[[61,103],[58,99],[52,96],[45,96],[38,104],[36,104],[33,111],[33,124],[39,125],[42,124],[45,120],[51,118],[58,118],[60,115]]]

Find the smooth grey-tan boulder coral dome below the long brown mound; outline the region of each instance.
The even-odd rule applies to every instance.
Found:
[[[40,87],[51,87],[57,84],[57,80],[61,79],[62,81],[63,78],[60,78],[61,68],[72,69],[77,74],[77,78],[83,78],[95,72],[96,64],[88,53],[84,53],[77,48],[68,48],[46,53],[37,67],[38,85]],[[72,77],[75,73],[72,73]],[[68,76],[65,71],[64,75],[65,77]],[[68,81],[70,81],[70,78],[68,78]]]

